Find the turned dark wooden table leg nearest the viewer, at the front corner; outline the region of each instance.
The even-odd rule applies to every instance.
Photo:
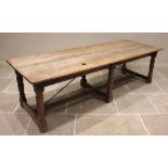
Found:
[[[36,102],[37,102],[38,126],[41,132],[46,132],[48,130],[48,127],[44,117],[44,103],[43,103],[44,88],[41,86],[34,86],[34,90],[36,93]]]

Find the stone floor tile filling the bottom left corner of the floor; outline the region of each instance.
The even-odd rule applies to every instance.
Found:
[[[1,135],[22,135],[29,121],[27,114],[0,114]]]

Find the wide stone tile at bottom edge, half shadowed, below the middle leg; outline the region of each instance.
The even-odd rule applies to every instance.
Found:
[[[138,116],[130,115],[79,115],[76,119],[76,134],[146,134]]]

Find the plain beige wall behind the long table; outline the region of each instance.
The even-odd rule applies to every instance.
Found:
[[[163,47],[156,63],[168,63],[168,34],[144,33],[0,33],[0,61],[13,56],[44,53],[92,43],[130,39]],[[138,63],[146,63],[141,60]]]

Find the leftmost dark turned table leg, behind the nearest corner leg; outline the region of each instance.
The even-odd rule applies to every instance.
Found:
[[[21,104],[21,107],[23,107],[23,102],[27,102],[25,96],[25,91],[24,91],[23,76],[16,70],[15,70],[15,74],[16,74],[17,88],[20,92],[20,104]]]

